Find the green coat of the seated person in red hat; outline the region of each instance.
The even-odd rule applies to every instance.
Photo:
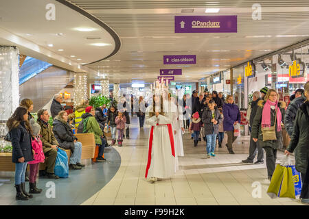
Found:
[[[95,136],[95,144],[102,144],[101,137],[103,136],[103,131],[100,128],[99,123],[95,120],[95,117],[89,113],[82,114],[82,119],[84,119],[84,127],[86,125],[87,133],[93,133]]]

